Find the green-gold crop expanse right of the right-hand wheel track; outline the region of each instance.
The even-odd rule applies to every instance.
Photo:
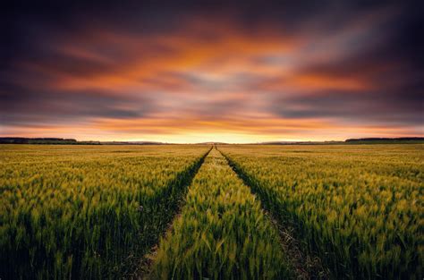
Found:
[[[422,279],[422,145],[220,149],[335,278]]]

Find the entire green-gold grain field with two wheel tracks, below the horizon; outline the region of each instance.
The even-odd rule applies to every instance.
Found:
[[[2,280],[422,279],[423,144],[0,145],[0,193]]]

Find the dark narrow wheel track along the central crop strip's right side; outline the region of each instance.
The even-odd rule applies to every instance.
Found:
[[[225,154],[219,150],[221,155],[225,157],[228,165],[231,166],[233,172],[242,180],[242,182],[249,186],[253,193],[256,193],[254,187],[250,185],[249,180],[243,174],[242,170],[239,170],[233,161],[226,157]],[[258,195],[260,199],[260,195]],[[264,207],[265,208],[265,207]],[[280,235],[280,242],[284,247],[284,252],[288,255],[290,263],[293,267],[295,276],[297,279],[328,279],[330,278],[330,272],[328,268],[323,267],[322,261],[313,255],[309,255],[304,250],[301,250],[300,242],[295,238],[295,233],[291,225],[287,225],[282,220],[279,220],[275,216],[271,209],[265,208],[267,216],[271,219],[272,223],[278,229]]]

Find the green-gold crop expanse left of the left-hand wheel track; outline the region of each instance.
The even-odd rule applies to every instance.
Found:
[[[174,216],[206,147],[2,146],[0,276],[117,278]]]

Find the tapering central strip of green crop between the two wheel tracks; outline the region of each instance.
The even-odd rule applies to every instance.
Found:
[[[295,277],[275,225],[216,148],[152,258],[151,279]]]

